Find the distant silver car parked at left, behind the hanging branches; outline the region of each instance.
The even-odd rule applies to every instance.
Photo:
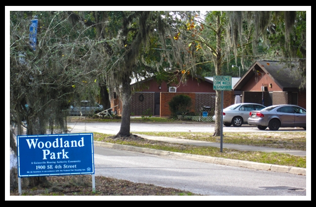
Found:
[[[74,103],[69,107],[69,115],[71,116],[87,116],[103,110],[103,106],[90,101],[81,101]]]

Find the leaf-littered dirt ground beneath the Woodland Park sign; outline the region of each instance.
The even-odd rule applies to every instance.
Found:
[[[51,186],[22,187],[25,196],[178,196],[196,195],[188,191],[164,188],[152,184],[95,176],[95,192],[92,192],[91,175],[49,176]],[[18,196],[18,190],[10,196]]]

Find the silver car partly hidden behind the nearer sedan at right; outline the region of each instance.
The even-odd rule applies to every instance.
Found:
[[[266,106],[261,104],[242,103],[230,105],[223,109],[223,123],[224,126],[240,127],[243,124],[247,124],[249,118],[249,112],[253,110],[261,110]],[[215,120],[215,115],[213,116]]]

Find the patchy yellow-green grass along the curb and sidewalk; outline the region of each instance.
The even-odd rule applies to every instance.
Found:
[[[161,135],[164,137],[172,137],[169,133],[140,133],[146,135]],[[171,133],[172,134],[172,133]],[[177,133],[176,133],[177,134]],[[211,141],[213,139],[208,139],[207,135],[204,133],[195,133],[194,136],[180,133],[181,135],[187,135],[187,137],[181,138],[195,138],[196,140],[207,140]],[[199,135],[202,134],[204,138],[199,139]],[[168,135],[168,136],[167,136]],[[209,135],[208,135],[209,136]],[[237,135],[231,135],[232,137],[237,137]],[[240,135],[242,137],[243,135]],[[306,168],[306,157],[298,157],[289,154],[283,153],[267,153],[267,152],[253,152],[253,151],[241,151],[235,149],[223,149],[223,152],[220,152],[220,149],[217,147],[204,147],[204,146],[192,146],[186,144],[178,144],[178,143],[169,143],[157,140],[149,140],[149,139],[113,139],[111,138],[112,135],[105,135],[100,133],[94,133],[94,140],[96,141],[104,141],[116,144],[123,144],[123,145],[131,145],[137,147],[144,147],[144,148],[151,148],[151,149],[159,149],[159,150],[166,150],[172,152],[181,152],[181,153],[188,153],[188,154],[196,154],[196,155],[204,155],[204,156],[211,156],[211,157],[221,157],[221,158],[228,158],[228,159],[235,159],[235,160],[244,160],[244,161],[251,161],[251,162],[258,162],[258,163],[268,163],[274,165],[284,165],[284,166],[292,166],[292,167],[299,167],[299,168]],[[175,136],[177,137],[177,136]],[[248,140],[242,141],[242,138],[237,138],[239,141],[238,144],[242,144],[248,142]],[[245,138],[244,138],[245,139]],[[257,142],[258,146],[267,146],[267,143],[270,141],[261,141]],[[298,144],[299,143],[299,144]],[[279,144],[283,145],[283,142],[279,142]],[[301,142],[293,141],[289,145],[292,148],[298,148],[295,145],[301,145]],[[305,144],[306,145],[306,144]],[[306,147],[306,146],[305,146]]]

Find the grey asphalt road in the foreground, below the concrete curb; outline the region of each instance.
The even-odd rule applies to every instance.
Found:
[[[208,196],[306,196],[306,176],[95,147],[95,175]]]

